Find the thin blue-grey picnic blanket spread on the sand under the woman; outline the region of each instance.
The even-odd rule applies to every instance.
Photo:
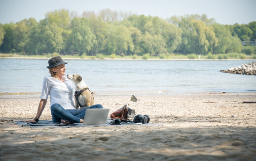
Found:
[[[125,123],[122,122],[121,125],[110,125],[111,119],[108,119],[106,124],[101,124],[101,125],[84,125],[82,123],[74,123],[74,124],[69,124],[67,126],[58,126],[58,123],[54,123],[49,120],[39,120],[37,124],[35,123],[29,123],[29,122],[24,122],[24,121],[14,121],[15,124],[21,127],[31,127],[31,128],[49,128],[49,127],[54,127],[54,128],[69,128],[69,127],[98,127],[98,126],[155,126],[159,124],[142,124],[142,123]]]

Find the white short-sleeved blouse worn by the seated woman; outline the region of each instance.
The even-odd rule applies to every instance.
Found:
[[[47,100],[48,95],[50,95],[50,107],[57,103],[64,109],[75,109],[73,103],[73,82],[66,77],[62,78],[64,82],[51,76],[44,77],[40,99]]]

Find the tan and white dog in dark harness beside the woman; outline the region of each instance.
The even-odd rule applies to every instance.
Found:
[[[74,100],[76,110],[95,105],[92,92],[87,87],[86,83],[82,80],[82,77],[77,74],[74,74],[73,76],[67,75],[67,77],[75,84],[76,91],[74,93]]]

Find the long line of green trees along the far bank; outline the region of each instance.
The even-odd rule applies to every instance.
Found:
[[[228,54],[241,41],[256,39],[256,22],[221,25],[207,15],[168,19],[101,10],[82,16],[61,9],[35,18],[0,24],[0,52],[20,54]]]

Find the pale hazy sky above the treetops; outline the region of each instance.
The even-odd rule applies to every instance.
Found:
[[[256,21],[256,0],[0,0],[0,23],[19,22],[25,18],[45,18],[58,9],[95,11],[131,11],[146,16],[168,18],[185,14],[206,14],[217,23],[233,25]]]

